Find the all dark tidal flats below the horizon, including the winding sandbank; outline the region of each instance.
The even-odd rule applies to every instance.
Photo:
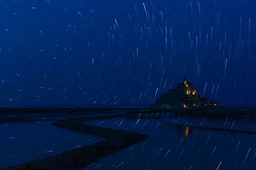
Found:
[[[122,113],[122,114],[121,114]],[[63,127],[72,131],[84,132],[100,136],[106,140],[92,145],[75,148],[66,152],[36,159],[17,166],[6,167],[6,169],[81,169],[94,162],[99,162],[103,157],[120,152],[135,143],[145,141],[148,136],[137,132],[120,131],[104,127],[84,124],[86,120],[108,119],[108,118],[207,118],[209,120],[236,120],[255,122],[255,110],[250,108],[221,108],[201,110],[151,110],[151,109],[81,109],[81,108],[2,108],[0,109],[0,123],[17,122],[40,122],[56,120],[52,123],[57,127]],[[175,125],[166,123],[167,125]],[[182,126],[182,125],[176,125]],[[189,125],[187,125],[189,127]],[[195,126],[199,129],[211,131],[240,132],[245,134],[256,134],[254,131],[237,131],[234,129],[221,129]]]

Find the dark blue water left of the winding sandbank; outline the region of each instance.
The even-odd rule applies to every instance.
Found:
[[[0,168],[90,145],[102,138],[47,122],[0,124]]]

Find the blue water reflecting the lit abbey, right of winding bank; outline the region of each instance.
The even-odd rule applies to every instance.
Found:
[[[113,118],[86,123],[141,132],[149,138],[85,169],[256,168],[253,134],[193,129],[152,119]]]

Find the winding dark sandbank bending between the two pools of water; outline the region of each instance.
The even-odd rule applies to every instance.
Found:
[[[25,164],[20,164],[6,169],[81,169],[93,162],[99,162],[102,157],[113,155],[148,138],[143,134],[118,131],[114,129],[95,127],[70,120],[58,120],[53,123],[58,127],[71,129],[106,138],[105,141],[93,143],[89,146],[68,150],[45,159],[36,159]]]

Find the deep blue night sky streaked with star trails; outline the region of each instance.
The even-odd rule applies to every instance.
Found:
[[[0,106],[150,106],[184,76],[256,103],[255,0],[0,0]]]

